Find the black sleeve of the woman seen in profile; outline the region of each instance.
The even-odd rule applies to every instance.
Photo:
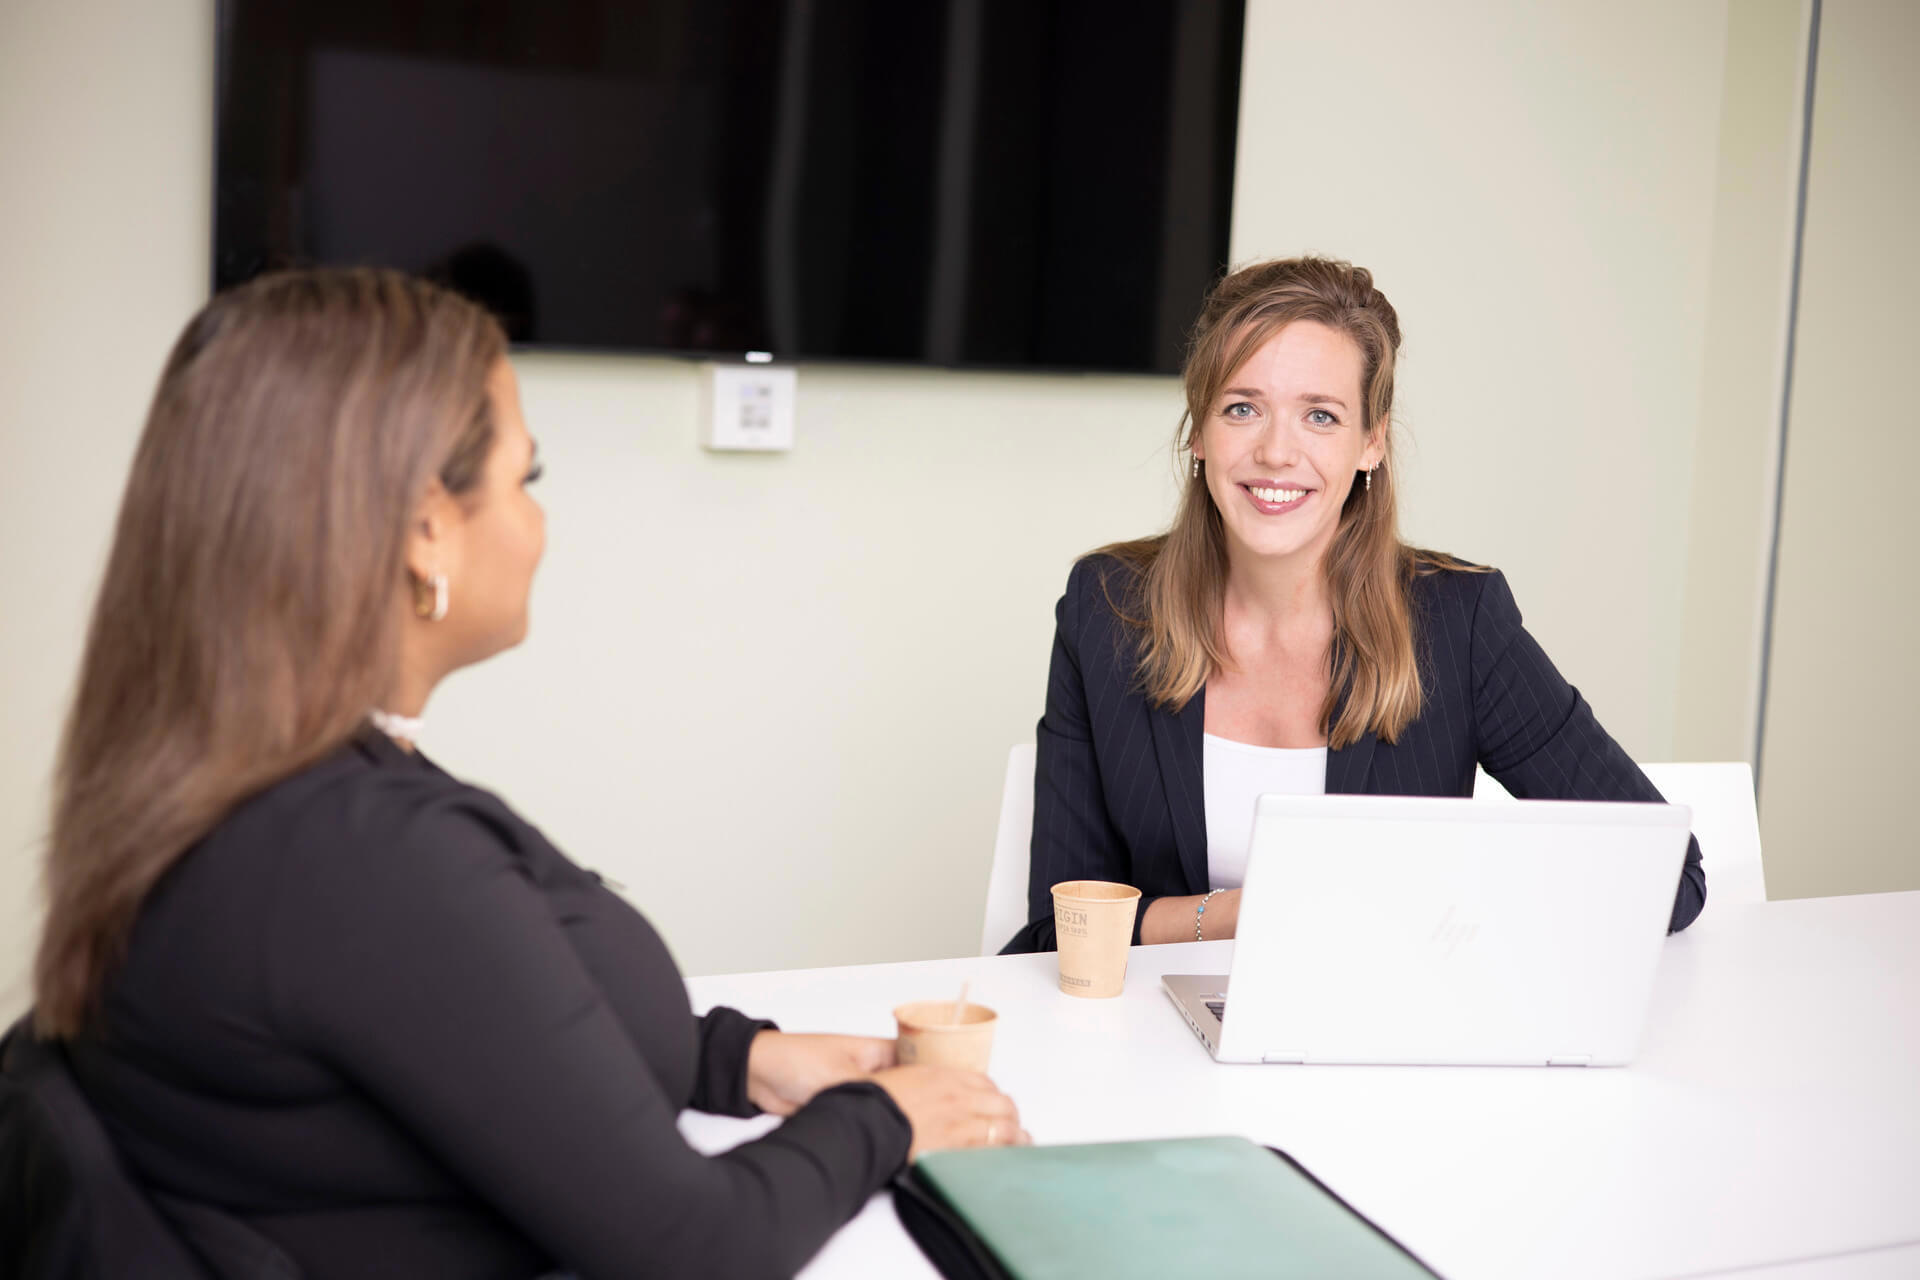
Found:
[[[459,800],[382,829],[353,875],[303,869],[275,900],[275,1034],[330,1061],[564,1268],[791,1276],[904,1163],[874,1084],[822,1092],[778,1130],[693,1151],[524,864]],[[290,877],[292,879],[292,877]],[[670,961],[634,983],[691,1017]],[[745,1109],[758,1025],[703,1019],[705,1102]]]

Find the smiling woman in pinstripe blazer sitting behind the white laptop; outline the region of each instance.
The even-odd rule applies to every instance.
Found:
[[[1400,319],[1300,257],[1225,276],[1194,324],[1173,528],[1102,547],[1060,601],[1029,923],[1060,881],[1140,889],[1135,942],[1231,938],[1265,793],[1659,800],[1521,626],[1498,572],[1400,541]],[[1705,902],[1690,841],[1670,927]]]

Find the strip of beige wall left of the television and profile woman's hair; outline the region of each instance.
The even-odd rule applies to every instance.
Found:
[[[205,290],[211,81],[211,4],[0,4],[0,1017],[127,461]]]

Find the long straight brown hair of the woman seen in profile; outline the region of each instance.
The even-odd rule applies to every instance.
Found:
[[[480,307],[388,271],[221,294],[159,376],[54,775],[35,1017],[83,1031],[140,904],[240,800],[388,697],[407,526],[474,487],[505,355]]]

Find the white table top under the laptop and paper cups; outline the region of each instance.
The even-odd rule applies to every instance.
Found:
[[[1914,1274],[1920,892],[1709,904],[1668,940],[1626,1069],[1221,1067],[1158,979],[1223,973],[1231,946],[1137,948],[1117,1000],[1062,996],[1052,956],[687,986],[701,1009],[891,1034],[895,1004],[966,979],[1000,1011],[993,1077],[1035,1142],[1244,1134],[1290,1151],[1450,1280],[1797,1278],[1784,1265],[1807,1259]],[[718,1150],[766,1125],[684,1128]],[[933,1270],[879,1196],[804,1274]]]

